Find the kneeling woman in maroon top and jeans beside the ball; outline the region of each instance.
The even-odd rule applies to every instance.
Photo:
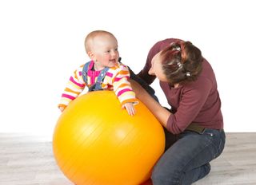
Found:
[[[138,77],[150,85],[156,78],[170,104],[163,108],[136,81],[138,99],[158,118],[166,133],[166,151],[154,167],[154,185],[191,184],[210,172],[210,161],[222,153],[225,132],[214,71],[190,41],[158,41]]]

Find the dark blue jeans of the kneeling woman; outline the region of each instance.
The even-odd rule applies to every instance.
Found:
[[[210,161],[222,153],[223,130],[206,128],[204,132],[166,133],[166,151],[155,165],[151,179],[154,185],[187,185],[210,172]],[[173,144],[173,141],[176,140]]]

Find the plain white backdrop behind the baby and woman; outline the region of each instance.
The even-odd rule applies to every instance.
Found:
[[[114,33],[136,73],[156,41],[192,41],[216,73],[226,132],[256,132],[255,18],[249,0],[2,0],[0,132],[52,134],[66,81],[88,61],[83,41],[92,30]]]

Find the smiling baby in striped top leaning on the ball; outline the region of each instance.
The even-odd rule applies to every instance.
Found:
[[[130,72],[119,62],[118,41],[110,32],[95,30],[85,40],[86,53],[91,61],[81,65],[70,77],[58,108],[63,111],[70,101],[82,93],[85,87],[90,91],[114,90],[122,108],[134,116],[134,104],[138,104],[131,89]]]

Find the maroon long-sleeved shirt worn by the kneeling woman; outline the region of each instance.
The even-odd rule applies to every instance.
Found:
[[[158,41],[150,49],[146,65],[138,73],[138,76],[149,85],[155,79],[154,76],[148,74],[152,58],[156,53],[174,41],[179,40],[169,38]],[[196,81],[179,85],[178,88],[170,86],[165,81],[160,81],[159,83],[173,112],[173,114],[170,114],[166,124],[166,128],[170,132],[174,134],[183,132],[192,122],[204,128],[223,128],[221,100],[217,89],[217,82],[214,70],[206,59],[202,61],[202,73],[200,73]]]

